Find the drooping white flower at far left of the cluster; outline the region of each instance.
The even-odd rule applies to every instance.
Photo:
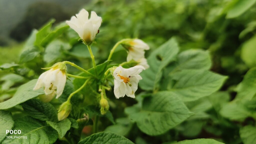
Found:
[[[34,90],[44,87],[46,96],[52,97],[57,94],[56,98],[59,98],[64,90],[66,80],[65,70],[60,70],[59,66],[55,66],[39,76]]]

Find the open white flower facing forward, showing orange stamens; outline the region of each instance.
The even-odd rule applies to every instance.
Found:
[[[117,67],[114,72],[114,94],[116,98],[128,97],[135,98],[135,91],[138,89],[138,82],[142,79],[139,75],[142,70],[145,70],[143,66],[134,66],[131,68]]]

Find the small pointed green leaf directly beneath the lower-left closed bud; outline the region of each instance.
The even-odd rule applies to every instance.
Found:
[[[67,131],[70,129],[71,126],[71,122],[67,118],[59,123],[47,121],[47,124],[49,124],[52,128],[58,131],[60,138],[63,138],[66,135]]]

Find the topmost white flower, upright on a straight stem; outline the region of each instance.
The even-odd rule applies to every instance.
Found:
[[[81,9],[76,17],[72,16],[66,23],[78,33],[84,42],[90,44],[98,34],[102,19],[93,11],[90,19],[88,19],[88,16],[89,13],[85,9]]]

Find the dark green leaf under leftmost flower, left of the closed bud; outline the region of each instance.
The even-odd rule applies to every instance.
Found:
[[[21,104],[24,111],[31,117],[42,121],[58,121],[57,110],[50,103],[44,103],[39,99],[30,99]]]

